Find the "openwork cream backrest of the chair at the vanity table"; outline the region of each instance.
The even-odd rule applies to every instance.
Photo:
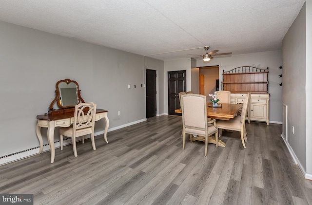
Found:
[[[94,131],[97,104],[80,103],[75,106],[75,117],[73,123],[73,135],[76,134],[76,130],[91,128]]]

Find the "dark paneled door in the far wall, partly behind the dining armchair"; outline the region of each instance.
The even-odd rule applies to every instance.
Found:
[[[180,108],[179,93],[186,92],[186,71],[168,72],[168,114],[181,115],[175,113]]]

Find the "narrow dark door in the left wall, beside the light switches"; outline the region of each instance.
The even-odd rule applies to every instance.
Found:
[[[146,69],[146,118],[156,116],[156,71]]]

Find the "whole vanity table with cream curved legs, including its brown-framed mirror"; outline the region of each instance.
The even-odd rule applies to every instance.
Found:
[[[43,150],[43,140],[41,136],[41,128],[48,128],[47,138],[51,150],[51,163],[54,162],[55,148],[54,148],[54,130],[56,127],[70,127],[74,121],[75,105],[83,103],[84,100],[80,96],[80,90],[78,89],[78,83],[70,79],[60,80],[56,84],[57,90],[56,97],[52,101],[49,107],[49,112],[46,114],[37,115],[36,134],[39,139],[40,149],[39,154]],[[54,109],[53,105],[57,102],[60,109]],[[96,121],[104,118],[105,130],[104,140],[107,141],[107,130],[109,127],[109,119],[107,117],[106,110],[97,109]]]

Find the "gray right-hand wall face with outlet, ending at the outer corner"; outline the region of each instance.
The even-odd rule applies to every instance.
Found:
[[[306,169],[305,19],[304,5],[283,39],[283,103],[288,106],[288,143],[304,169]]]

